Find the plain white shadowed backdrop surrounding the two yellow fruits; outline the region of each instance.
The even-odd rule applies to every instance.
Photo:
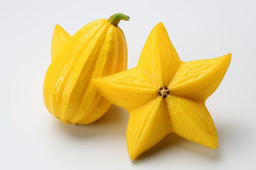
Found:
[[[256,1],[0,0],[1,170],[235,170],[256,168]],[[43,103],[55,24],[73,35],[114,13],[136,66],[150,30],[161,21],[183,61],[232,53],[218,90],[207,100],[219,148],[168,135],[136,161],[126,149],[126,110],[112,106],[98,121],[66,125]]]

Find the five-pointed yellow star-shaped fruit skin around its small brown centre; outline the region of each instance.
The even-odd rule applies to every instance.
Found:
[[[170,132],[216,149],[217,132],[205,101],[218,88],[230,60],[228,53],[182,62],[159,22],[135,68],[93,79],[106,99],[129,112],[126,139],[130,158],[135,159]],[[158,94],[163,86],[170,89],[166,98]]]

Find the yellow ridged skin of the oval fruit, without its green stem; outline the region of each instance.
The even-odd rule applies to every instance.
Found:
[[[43,86],[45,106],[66,124],[89,124],[110,107],[91,79],[127,69],[127,44],[123,31],[101,19],[70,36],[56,25],[52,38],[52,63]]]

